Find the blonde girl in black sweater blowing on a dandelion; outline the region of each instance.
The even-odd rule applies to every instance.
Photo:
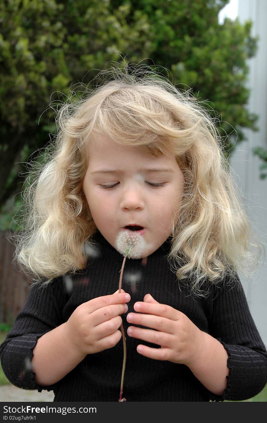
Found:
[[[251,398],[267,353],[237,275],[251,227],[219,132],[193,96],[138,72],[60,110],[25,195],[16,258],[35,283],[3,370],[54,401],[118,401],[123,324],[127,401]],[[118,235],[135,230],[144,246],[119,292]]]

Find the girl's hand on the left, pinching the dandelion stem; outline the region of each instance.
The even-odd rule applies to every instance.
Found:
[[[118,292],[84,302],[65,323],[66,338],[81,356],[112,348],[120,341],[120,314],[128,310],[126,302],[131,297],[123,289]]]

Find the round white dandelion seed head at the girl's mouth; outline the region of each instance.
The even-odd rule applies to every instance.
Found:
[[[120,231],[115,244],[119,253],[128,258],[140,258],[146,246],[142,235],[130,231]]]

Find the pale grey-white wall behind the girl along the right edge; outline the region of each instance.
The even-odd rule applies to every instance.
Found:
[[[250,76],[247,84],[251,89],[248,110],[259,115],[256,124],[259,132],[245,130],[248,140],[238,144],[230,160],[234,180],[247,198],[248,215],[265,244],[266,252],[265,260],[264,257],[260,258],[253,281],[242,280],[242,277],[240,280],[253,319],[267,346],[267,179],[259,179],[262,160],[252,153],[252,148],[256,146],[267,149],[267,1],[239,0],[238,19],[242,23],[252,20],[251,33],[260,37],[256,56],[248,60]]]

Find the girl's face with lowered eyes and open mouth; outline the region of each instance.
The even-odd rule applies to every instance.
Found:
[[[142,226],[146,247],[140,258],[152,254],[171,234],[181,201],[183,174],[175,157],[154,157],[104,135],[90,143],[88,154],[83,191],[98,230],[116,248],[125,226]]]

